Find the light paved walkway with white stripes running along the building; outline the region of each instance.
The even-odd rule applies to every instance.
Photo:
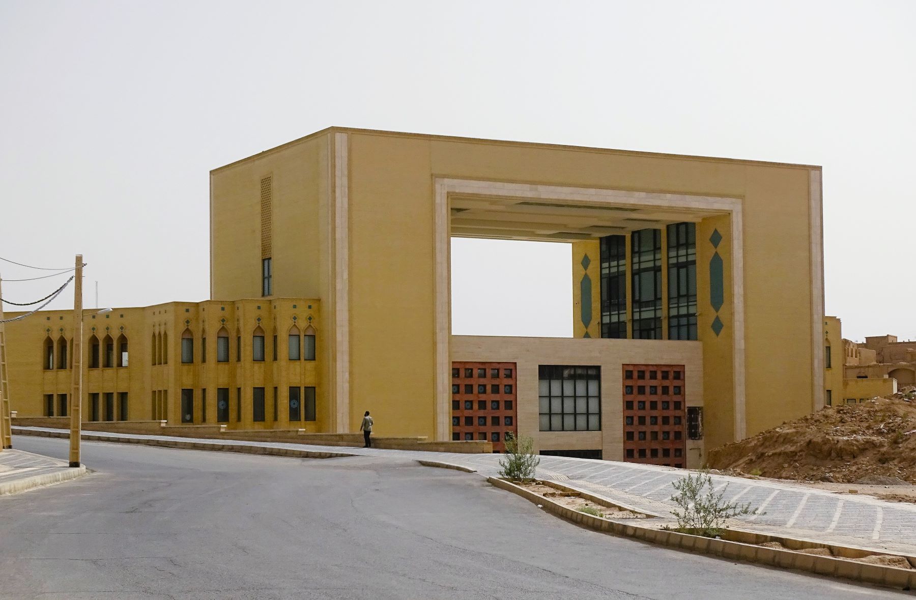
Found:
[[[20,429],[20,428],[16,428]],[[21,428],[38,431],[44,428]],[[15,432],[15,430],[14,430]],[[181,442],[218,442],[224,445],[267,446],[428,460],[475,469],[480,475],[496,475],[498,454],[431,453],[374,448],[345,448],[283,442],[242,442],[152,435],[125,435],[92,431],[112,438],[152,438]],[[660,517],[671,517],[671,483],[684,475],[682,469],[649,464],[617,463],[582,458],[541,456],[538,476],[587,490],[616,503]],[[836,494],[804,485],[712,475],[716,489],[725,487],[728,501],[749,502],[765,515],[735,519],[741,529],[771,535],[851,545],[874,550],[916,554],[916,505],[878,500],[872,496]]]

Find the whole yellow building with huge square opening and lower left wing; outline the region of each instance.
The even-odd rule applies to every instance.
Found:
[[[214,169],[210,204],[212,300],[87,317],[87,419],[348,432],[368,409],[385,435],[698,465],[825,402],[819,167],[333,127]],[[572,244],[573,338],[452,335],[453,236]],[[20,415],[67,393],[42,362],[69,326],[9,325]]]

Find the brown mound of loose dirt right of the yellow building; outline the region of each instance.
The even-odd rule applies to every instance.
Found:
[[[710,451],[708,464],[750,475],[916,484],[916,402],[902,395],[826,407]]]

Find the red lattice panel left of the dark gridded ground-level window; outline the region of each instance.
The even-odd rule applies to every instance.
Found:
[[[506,452],[506,433],[518,433],[515,363],[452,363],[452,439],[493,442]]]

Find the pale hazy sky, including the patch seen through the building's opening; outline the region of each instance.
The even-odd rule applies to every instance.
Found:
[[[206,300],[210,169],[330,125],[796,162],[826,312],[916,339],[914,28],[911,0],[0,0],[0,256],[82,253],[87,306]],[[453,333],[572,333],[570,247],[526,245],[453,240]],[[3,297],[37,273],[0,263]]]

